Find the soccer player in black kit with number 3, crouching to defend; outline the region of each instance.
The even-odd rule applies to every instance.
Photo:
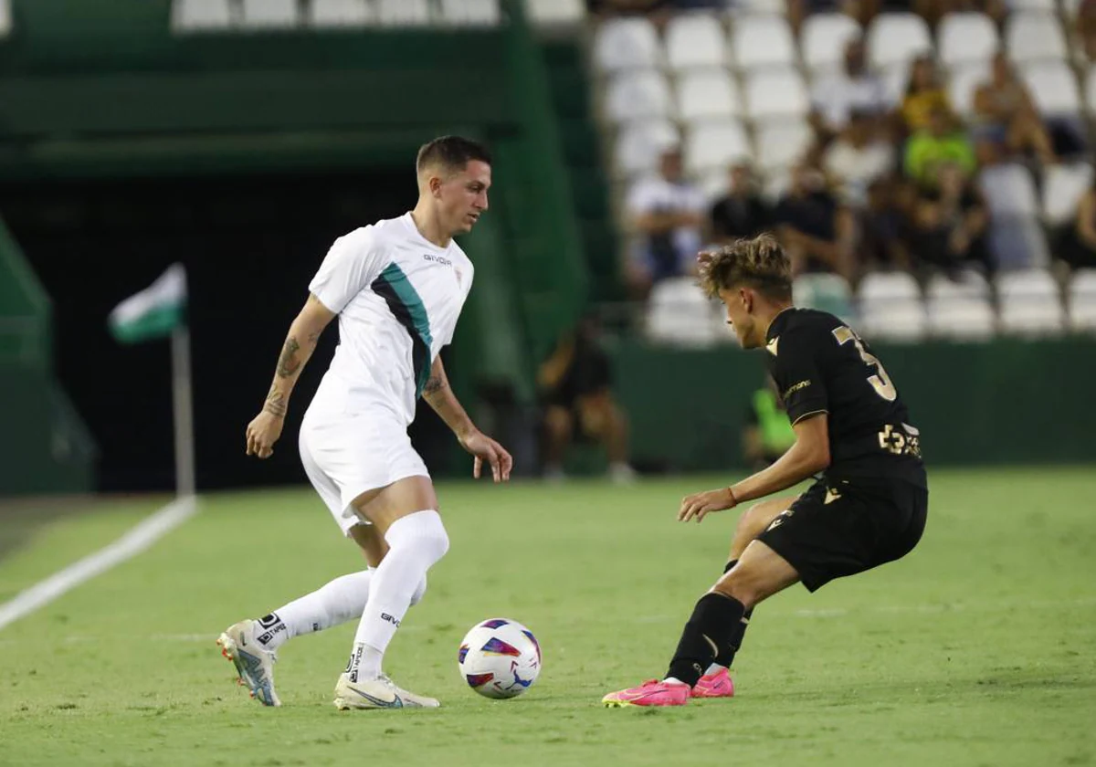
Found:
[[[681,706],[729,697],[727,674],[756,605],[797,582],[815,591],[909,553],[925,529],[928,484],[917,430],[871,350],[833,314],[791,302],[791,268],[767,234],[700,256],[700,287],[727,308],[743,348],[762,348],[795,444],[738,484],[688,495],[700,522],[818,478],[799,497],[743,515],[722,577],[696,603],[662,680],[612,692],[606,706]],[[819,473],[821,472],[821,473]]]

